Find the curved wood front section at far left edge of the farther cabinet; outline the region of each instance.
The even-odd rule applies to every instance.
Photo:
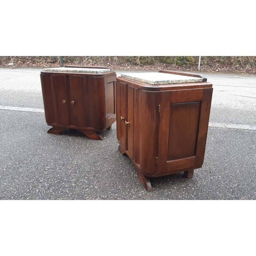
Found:
[[[58,124],[58,109],[55,102],[55,88],[53,88],[51,76],[42,75],[41,78],[41,87],[44,100],[44,114],[45,120],[48,124]]]

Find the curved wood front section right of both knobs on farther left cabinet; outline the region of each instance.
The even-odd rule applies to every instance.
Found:
[[[81,77],[85,127],[96,131],[106,129],[104,77]]]

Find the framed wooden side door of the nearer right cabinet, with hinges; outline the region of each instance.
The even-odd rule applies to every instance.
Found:
[[[160,92],[157,172],[203,164],[211,100],[212,88]]]

